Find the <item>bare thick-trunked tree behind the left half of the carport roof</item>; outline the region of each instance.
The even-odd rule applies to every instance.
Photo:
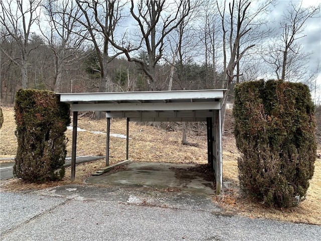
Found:
[[[99,69],[93,69],[93,71],[100,73],[98,92],[111,91],[112,80],[108,74],[108,65],[123,51],[116,52],[110,42],[117,43],[114,32],[123,18],[124,4],[115,0],[104,2],[76,0],[76,3],[80,14],[73,17],[88,31],[88,37],[82,33],[79,34],[93,44],[97,55]],[[128,45],[126,51],[130,52],[135,49]],[[100,117],[102,113],[97,112],[96,118]]]

